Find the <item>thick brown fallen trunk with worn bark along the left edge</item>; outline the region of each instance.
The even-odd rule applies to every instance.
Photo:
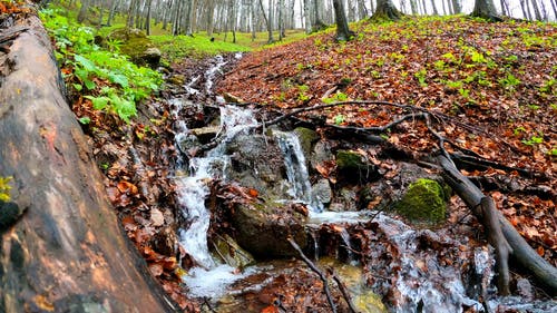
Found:
[[[0,312],[173,311],[106,198],[40,20],[19,23],[0,52],[0,176],[27,209],[0,229]]]

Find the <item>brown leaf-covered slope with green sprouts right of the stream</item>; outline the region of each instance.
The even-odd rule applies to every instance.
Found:
[[[348,42],[331,31],[247,55],[218,92],[283,113],[344,102],[297,117],[363,131],[404,116],[390,104],[432,113],[446,150],[492,165],[462,173],[482,177],[483,192],[556,265],[557,26],[450,17],[353,30]],[[429,126],[411,119],[378,135],[427,159],[439,149]]]

